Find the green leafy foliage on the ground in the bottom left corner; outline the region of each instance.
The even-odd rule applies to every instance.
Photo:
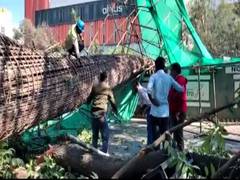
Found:
[[[15,157],[16,152],[6,142],[0,144],[0,177],[4,179],[76,179],[87,178],[59,166],[53,158],[45,156],[44,161],[37,162],[31,158],[28,162]]]

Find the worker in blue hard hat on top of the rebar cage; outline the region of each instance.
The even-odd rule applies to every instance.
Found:
[[[76,24],[72,25],[68,31],[65,41],[65,47],[70,55],[80,58],[80,52],[84,49],[84,40],[82,33],[84,32],[84,22],[78,20]]]

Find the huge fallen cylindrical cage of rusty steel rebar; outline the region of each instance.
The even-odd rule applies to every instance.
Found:
[[[151,61],[126,55],[54,57],[0,34],[0,140],[79,107],[101,71],[115,87],[148,66]]]

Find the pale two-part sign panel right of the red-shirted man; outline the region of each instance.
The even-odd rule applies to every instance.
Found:
[[[187,98],[188,101],[197,101],[199,100],[199,90],[198,90],[198,82],[190,81],[187,83]],[[209,101],[209,82],[201,82],[200,83],[200,92],[201,92],[201,100]]]

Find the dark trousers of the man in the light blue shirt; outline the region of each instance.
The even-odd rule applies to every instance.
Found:
[[[158,118],[150,115],[149,120],[152,122],[153,141],[169,129],[169,117]]]

